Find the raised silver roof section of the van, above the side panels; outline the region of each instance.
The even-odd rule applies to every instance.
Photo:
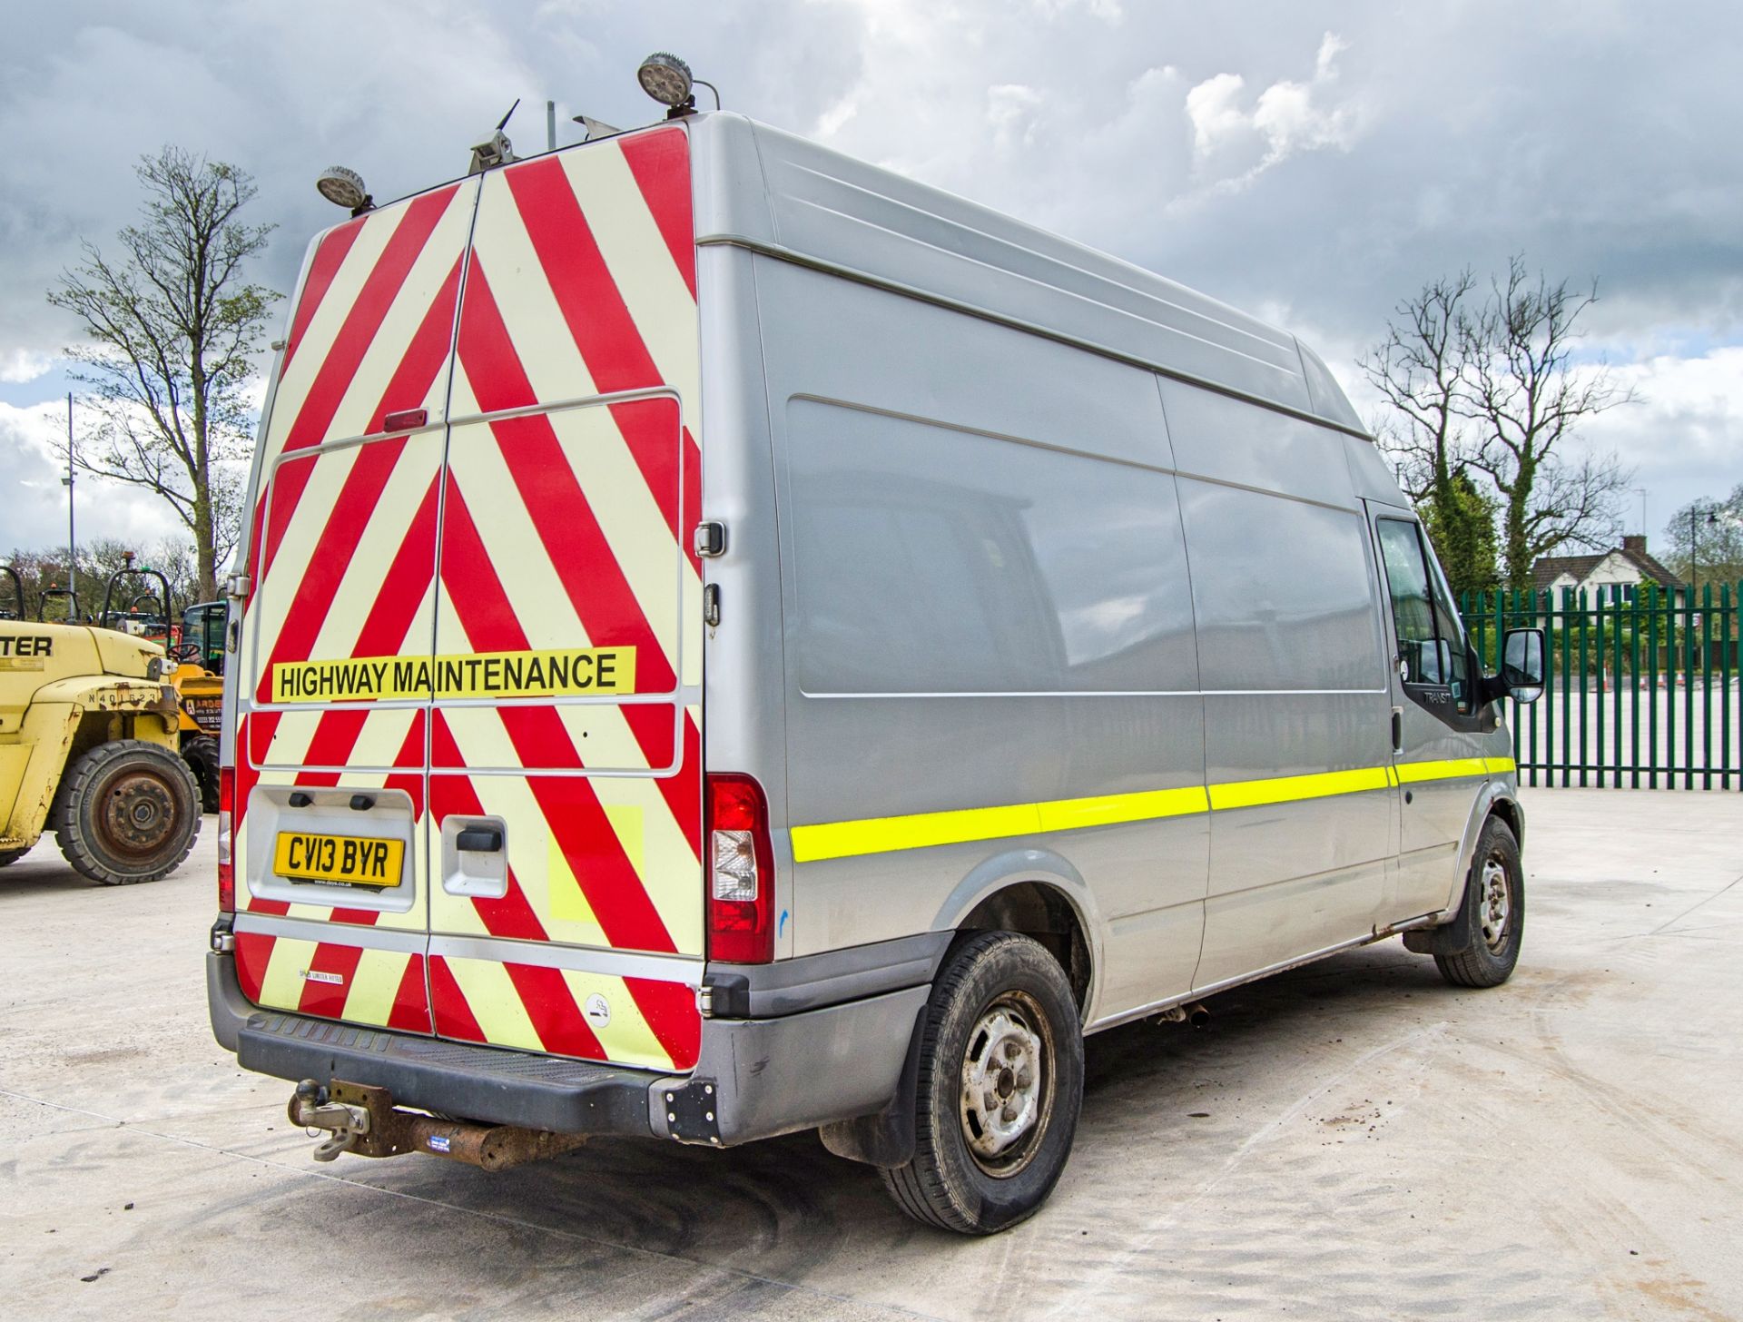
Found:
[[[1367,436],[1311,349],[1227,303],[743,115],[688,124],[701,244],[865,279]]]

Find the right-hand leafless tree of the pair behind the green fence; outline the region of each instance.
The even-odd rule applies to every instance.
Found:
[[[1572,457],[1565,443],[1633,392],[1604,365],[1574,363],[1581,314],[1598,298],[1530,276],[1522,258],[1492,284],[1469,324],[1462,408],[1482,431],[1471,464],[1501,494],[1501,548],[1513,588],[1532,563],[1569,542],[1602,548],[1616,535],[1633,473],[1616,455]]]

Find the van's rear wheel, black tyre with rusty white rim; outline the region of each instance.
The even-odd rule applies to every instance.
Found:
[[[1082,1088],[1082,1027],[1058,961],[1028,937],[974,933],[933,985],[913,1160],[882,1170],[884,1188],[929,1226],[1014,1226],[1065,1169]]]

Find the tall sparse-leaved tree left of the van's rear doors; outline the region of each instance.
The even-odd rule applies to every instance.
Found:
[[[99,419],[75,462],[155,492],[193,537],[200,596],[237,539],[241,460],[251,443],[244,387],[277,293],[246,283],[272,225],[237,215],[254,197],[235,166],[180,147],[141,157],[141,221],[110,262],[91,242],[49,302],[84,323],[85,405]]]

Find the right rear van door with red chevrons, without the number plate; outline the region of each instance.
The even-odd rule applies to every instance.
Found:
[[[682,129],[485,176],[434,610],[439,1036],[695,1062],[697,359]]]

